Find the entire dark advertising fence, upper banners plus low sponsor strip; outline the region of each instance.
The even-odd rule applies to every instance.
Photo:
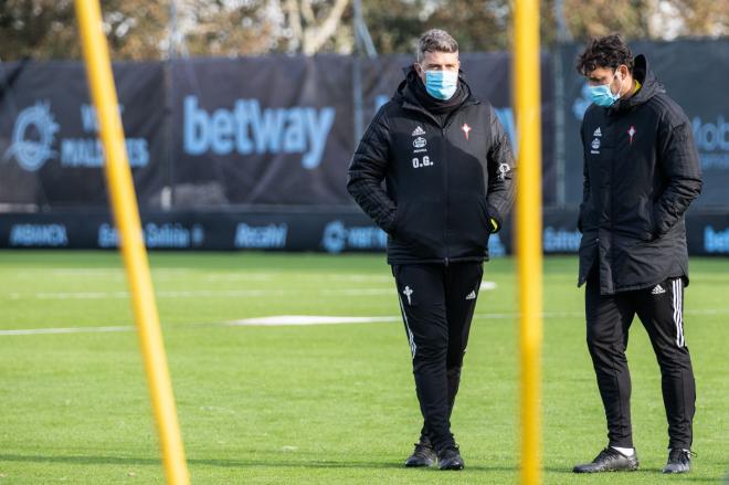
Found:
[[[633,48],[685,108],[697,141],[705,187],[687,219],[689,251],[729,254],[729,40]],[[542,57],[546,253],[574,252],[580,239],[578,133],[588,101],[573,67],[579,49]],[[362,61],[366,122],[410,63]],[[515,139],[509,55],[463,54],[462,67]],[[114,73],[149,247],[384,247],[345,189],[356,143],[350,57],[116,63]],[[81,64],[0,64],[0,247],[114,247],[102,165]],[[509,254],[510,234],[489,247]]]

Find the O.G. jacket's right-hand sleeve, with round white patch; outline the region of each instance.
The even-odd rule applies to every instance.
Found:
[[[504,219],[514,203],[516,187],[516,161],[511,151],[509,137],[504,126],[496,117],[494,107],[490,107],[492,147],[487,154],[488,188],[486,202],[489,217],[496,219],[498,228],[503,226]]]

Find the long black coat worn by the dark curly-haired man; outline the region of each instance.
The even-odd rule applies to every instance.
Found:
[[[669,277],[688,284],[684,212],[701,191],[691,126],[643,55],[641,89],[582,122],[584,190],[578,228],[582,285],[594,264],[600,292],[640,289]]]

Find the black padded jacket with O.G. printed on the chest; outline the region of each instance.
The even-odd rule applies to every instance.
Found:
[[[500,228],[514,199],[508,137],[463,78],[463,103],[435,116],[419,102],[415,75],[367,128],[347,189],[388,233],[388,263],[484,261],[489,218]]]

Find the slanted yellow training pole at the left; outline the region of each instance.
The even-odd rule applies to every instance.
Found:
[[[105,170],[112,209],[120,232],[122,255],[131,292],[131,306],[157,420],[167,483],[189,484],[190,476],[184,461],[172,384],[159,328],[149,262],[141,238],[137,198],[131,183],[122,119],[117,109],[112,63],[106,38],[102,31],[102,13],[98,0],[75,0],[75,6],[86,75],[106,154]]]

